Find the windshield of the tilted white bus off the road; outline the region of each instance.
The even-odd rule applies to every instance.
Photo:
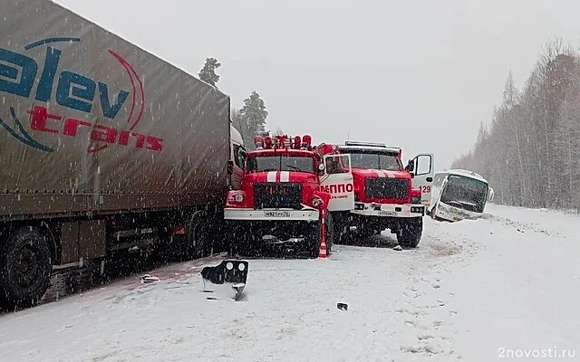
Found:
[[[474,213],[483,213],[488,199],[488,184],[475,178],[449,175],[441,192],[442,203]]]

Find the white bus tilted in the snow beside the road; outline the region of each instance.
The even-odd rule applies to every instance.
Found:
[[[449,222],[477,219],[492,200],[493,188],[483,176],[463,169],[438,172],[433,177],[427,214]]]

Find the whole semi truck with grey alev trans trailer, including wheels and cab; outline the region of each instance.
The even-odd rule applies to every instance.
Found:
[[[0,304],[112,252],[219,248],[244,148],[229,97],[51,1],[0,13]]]

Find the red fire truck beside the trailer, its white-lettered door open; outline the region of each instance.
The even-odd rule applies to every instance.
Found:
[[[348,212],[354,207],[350,155],[327,157],[340,162],[340,173],[328,174],[323,157],[314,152],[312,138],[267,133],[254,139],[256,149],[242,155],[244,176],[239,190],[227,193],[224,217],[231,233],[231,252],[253,254],[266,245],[296,246],[317,256],[320,246],[320,213],[327,209]],[[322,186],[322,189],[321,189]],[[333,216],[325,218],[326,251],[333,243]]]

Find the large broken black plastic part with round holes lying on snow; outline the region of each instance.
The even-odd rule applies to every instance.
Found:
[[[208,300],[231,298],[239,300],[246,288],[247,261],[224,260],[219,265],[207,266],[201,270],[203,291],[211,293]]]

